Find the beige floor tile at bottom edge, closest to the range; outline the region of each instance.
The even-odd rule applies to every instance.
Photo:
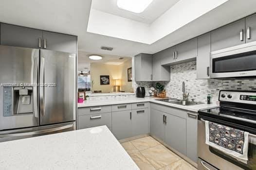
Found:
[[[195,167],[184,161],[183,159],[173,162],[160,170],[197,170]]]

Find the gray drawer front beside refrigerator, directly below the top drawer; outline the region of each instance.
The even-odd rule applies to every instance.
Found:
[[[78,116],[78,129],[103,125],[111,127],[111,113]]]

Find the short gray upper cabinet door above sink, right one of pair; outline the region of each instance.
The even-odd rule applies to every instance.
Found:
[[[176,46],[175,62],[197,57],[197,38],[190,39]]]

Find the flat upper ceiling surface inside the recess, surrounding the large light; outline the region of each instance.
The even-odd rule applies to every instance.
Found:
[[[151,24],[179,0],[153,0],[145,11],[139,14],[118,8],[116,1],[117,0],[92,0],[91,8],[115,16],[125,17],[138,22]]]

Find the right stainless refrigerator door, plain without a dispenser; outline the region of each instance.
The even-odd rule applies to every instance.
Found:
[[[73,53],[40,50],[40,125],[75,120],[75,65]]]

